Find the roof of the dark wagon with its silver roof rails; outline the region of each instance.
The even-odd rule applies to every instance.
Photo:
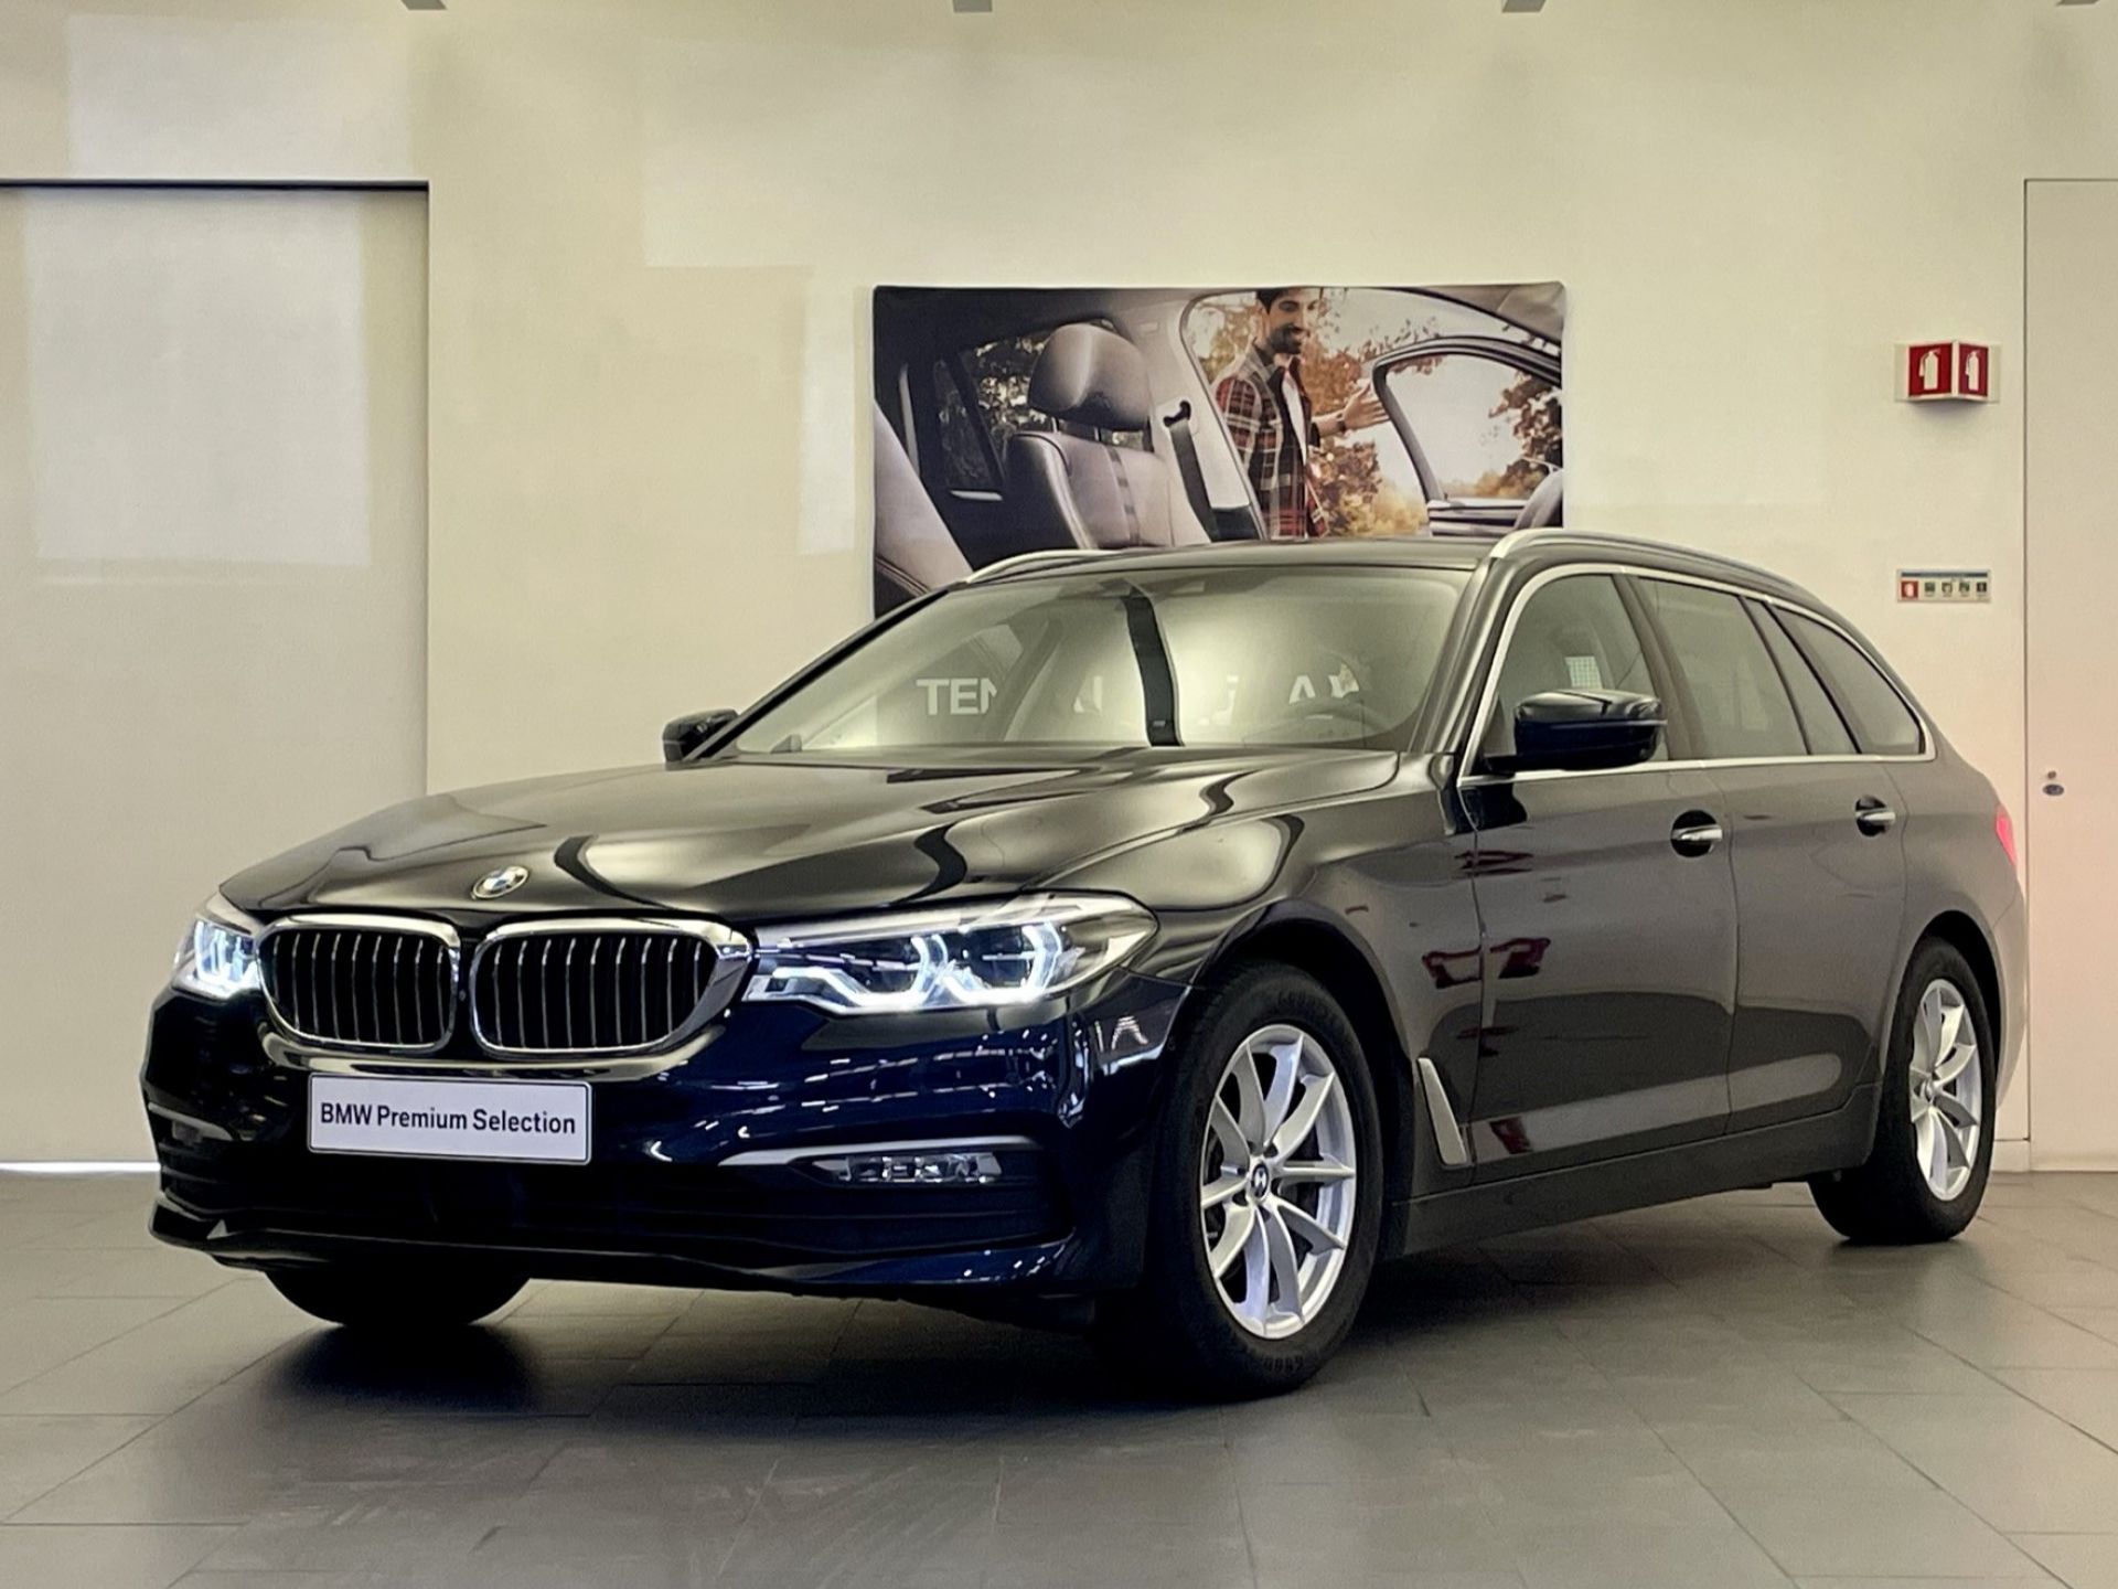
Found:
[[[1821,606],[1790,578],[1720,553],[1661,540],[1605,536],[1586,530],[1516,530],[1504,536],[1330,536],[1320,540],[1218,540],[1205,547],[1142,547],[1131,551],[1034,551],[981,568],[970,585],[993,581],[1080,574],[1089,568],[1199,568],[1241,564],[1298,564],[1315,568],[1455,568],[1508,564],[1523,572],[1552,564],[1629,564],[1671,574],[1694,574]]]

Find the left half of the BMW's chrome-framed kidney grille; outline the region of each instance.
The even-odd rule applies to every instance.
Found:
[[[457,939],[447,926],[303,917],[258,943],[280,1025],[349,1049],[438,1049],[455,1030]]]

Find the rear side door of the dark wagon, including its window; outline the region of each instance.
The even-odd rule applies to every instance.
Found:
[[[1874,1074],[1891,992],[1904,837],[1889,769],[1860,754],[1794,642],[1805,619],[1699,583],[1637,589],[1724,794],[1743,917],[1728,1127],[1828,1112]]]

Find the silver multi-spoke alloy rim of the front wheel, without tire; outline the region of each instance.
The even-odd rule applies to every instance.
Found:
[[[1353,1235],[1353,1108],[1336,1061],[1294,1025],[1228,1055],[1199,1150],[1205,1261],[1228,1314],[1281,1339],[1330,1301]]]

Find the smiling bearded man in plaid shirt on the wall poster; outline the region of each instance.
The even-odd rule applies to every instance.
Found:
[[[1214,405],[1250,475],[1271,540],[1332,534],[1317,511],[1309,449],[1381,424],[1383,400],[1362,381],[1339,413],[1315,413],[1303,388],[1303,350],[1324,307],[1313,286],[1260,286],[1258,324],[1243,356],[1214,383]]]

